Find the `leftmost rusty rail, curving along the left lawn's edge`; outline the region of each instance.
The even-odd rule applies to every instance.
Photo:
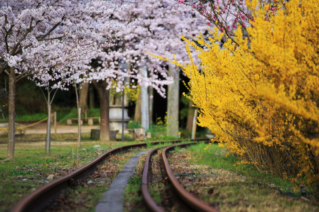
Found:
[[[192,141],[200,141],[203,139],[194,139]],[[172,141],[156,141],[151,142],[150,144],[156,145],[160,143],[178,143],[182,142],[182,140],[172,140]],[[139,143],[132,145],[125,145],[121,147],[117,147],[115,149],[109,150],[101,154],[98,158],[94,159],[90,163],[74,170],[73,172],[58,178],[42,187],[39,187],[35,191],[23,197],[18,203],[11,208],[11,212],[30,212],[30,211],[41,211],[45,206],[48,205],[50,200],[58,197],[63,190],[67,190],[71,186],[74,186],[78,182],[78,180],[82,180],[85,177],[93,174],[99,165],[103,164],[105,160],[109,158],[110,155],[117,154],[118,152],[122,152],[125,150],[129,150],[131,148],[138,148],[146,146],[147,143]]]

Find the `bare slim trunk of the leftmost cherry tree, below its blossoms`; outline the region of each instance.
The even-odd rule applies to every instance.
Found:
[[[14,135],[15,135],[15,100],[16,100],[16,74],[14,67],[10,67],[9,73],[9,126],[8,126],[8,152],[5,160],[14,160]]]

